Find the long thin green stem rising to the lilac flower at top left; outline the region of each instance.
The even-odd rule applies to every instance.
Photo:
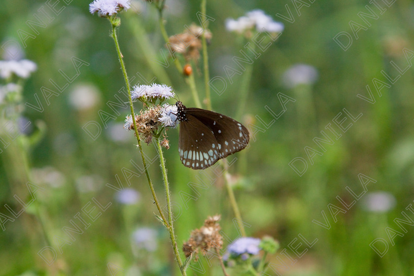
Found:
[[[130,83],[129,83],[129,79],[128,79],[128,75],[127,75],[127,70],[125,69],[124,60],[122,58],[121,49],[119,47],[118,37],[116,35],[116,25],[114,25],[112,20],[110,20],[110,21],[111,21],[111,25],[112,25],[112,38],[115,42],[115,47],[116,47],[116,51],[118,53],[119,63],[121,64],[122,73],[124,74],[124,79],[125,79],[125,85],[126,85],[127,90],[128,90],[128,99],[129,99],[130,108],[131,108],[132,122],[133,122],[133,125],[134,125],[135,136],[137,137],[137,141],[138,141],[139,152],[141,153],[142,164],[144,166],[145,174],[146,174],[146,177],[147,177],[147,180],[148,180],[148,185],[149,185],[149,188],[151,189],[151,193],[152,193],[152,196],[154,198],[154,202],[155,202],[155,204],[158,208],[158,212],[160,213],[161,218],[164,221],[164,224],[167,227],[169,227],[169,225],[167,223],[167,220],[164,216],[164,213],[161,209],[161,206],[158,202],[157,196],[155,194],[155,190],[154,190],[154,186],[152,185],[151,177],[149,176],[148,168],[147,168],[146,161],[145,161],[144,152],[142,150],[141,140],[140,140],[139,134],[138,134],[137,122],[135,121],[134,105],[132,103],[131,88],[130,88]]]

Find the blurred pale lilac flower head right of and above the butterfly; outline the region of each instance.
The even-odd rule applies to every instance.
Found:
[[[287,88],[293,88],[299,84],[313,84],[318,78],[318,71],[310,65],[296,64],[287,69],[282,78]]]

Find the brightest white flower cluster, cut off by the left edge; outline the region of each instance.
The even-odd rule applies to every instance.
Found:
[[[0,61],[0,77],[9,78],[13,74],[21,78],[28,78],[37,69],[36,64],[30,60]]]

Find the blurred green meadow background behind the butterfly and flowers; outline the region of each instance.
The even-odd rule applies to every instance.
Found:
[[[59,14],[51,11],[55,3],[54,9]],[[22,209],[16,195],[26,204],[30,195],[25,185],[27,179],[22,176],[24,157],[17,150],[18,139],[12,141],[4,132],[1,137],[10,145],[4,148],[2,142],[0,147],[3,150],[0,215],[5,227],[0,232],[0,275],[179,274],[168,233],[153,215],[156,207],[145,175],[130,162],[142,166],[133,133],[122,128],[128,108],[111,109],[107,105],[108,101],[118,102],[114,95],[127,102],[118,93],[124,80],[109,37],[110,24],[106,19],[92,16],[89,3],[1,1],[1,44],[17,41],[25,58],[37,64],[37,70],[24,84],[23,103],[38,105],[37,93],[44,110],[39,112],[25,105],[23,114],[32,124],[22,135],[36,134],[35,122],[39,120],[45,123],[46,131],[31,148],[28,162],[33,183],[42,189],[31,187],[37,189],[36,200],[14,221],[7,221],[4,215],[13,218],[9,208],[15,212]],[[139,14],[132,9],[122,13],[118,34],[129,76],[136,77],[132,83],[156,77],[155,82],[172,86],[185,105],[194,106],[190,90],[173,61],[169,59],[167,68],[156,62],[163,61],[161,53],[168,54],[156,9],[143,1],[133,5]],[[183,32],[184,25],[198,23],[199,1],[167,0],[166,5],[169,35]],[[289,17],[285,5],[294,22],[276,16],[279,13]],[[369,13],[366,5],[378,15],[377,19],[364,17],[369,24],[358,16],[360,12]],[[376,5],[381,7],[382,14]],[[261,56],[252,65],[251,79],[245,73],[236,74],[230,84],[223,67],[237,68],[232,57],[242,57],[240,50],[247,51],[244,48],[247,40],[227,32],[224,22],[257,8],[282,22],[284,32],[269,48],[260,51]],[[42,11],[53,19],[45,17]],[[215,19],[208,26],[212,33],[208,46],[210,78],[221,76],[227,80],[227,89],[221,95],[212,91],[213,109],[242,121],[254,133],[248,149],[229,157],[229,161],[238,159],[230,168],[236,179],[236,198],[248,235],[259,238],[270,235],[280,242],[279,253],[270,258],[274,264],[285,263],[284,268],[275,265],[278,273],[414,275],[414,212],[410,210],[414,200],[413,1],[207,1],[207,15]],[[43,27],[32,25],[37,33],[27,24],[28,20],[36,21],[36,16],[47,22]],[[352,33],[350,21],[355,23],[351,25],[357,37]],[[341,32],[352,37],[346,51],[333,39]],[[19,34],[27,38],[26,47]],[[345,36],[341,39],[346,45]],[[78,76],[69,83],[60,72],[69,78],[75,76],[73,57],[89,65],[81,66]],[[286,85],[288,76],[284,72],[295,64],[316,69],[318,76],[314,83]],[[396,67],[407,70],[399,73]],[[400,78],[384,86],[379,94],[373,79],[390,83],[381,71],[393,79],[398,75]],[[201,60],[193,63],[193,72],[200,97],[204,99]],[[56,91],[50,80],[60,87],[68,86],[58,95],[52,95],[48,104],[41,88]],[[247,104],[240,99],[243,85],[249,85]],[[370,98],[367,85],[375,103],[357,97]],[[278,93],[295,102],[286,102],[284,113],[276,120],[268,109],[275,114],[284,110]],[[137,111],[139,107],[136,104]],[[347,116],[344,108],[353,117],[362,113],[355,121],[348,116],[342,126],[352,125],[346,132],[333,122],[337,115],[338,122]],[[106,128],[101,121],[105,114],[109,116]],[[267,128],[256,115],[267,124],[273,119],[275,122]],[[102,131],[95,140],[82,128],[91,121],[98,122]],[[336,139],[325,128],[328,124],[342,136]],[[326,151],[313,141],[315,137],[326,139],[321,131],[333,139],[331,144],[321,143]],[[165,151],[165,157],[179,246],[192,229],[199,228],[208,215],[216,213],[222,215],[227,245],[239,233],[233,223],[234,214],[220,167],[215,167],[216,172],[185,168],[177,154],[178,131],[170,130],[168,135],[170,150]],[[144,150],[152,160],[149,171],[164,204],[155,148],[144,145]],[[289,166],[296,157],[303,158],[308,165],[302,176]],[[300,163],[295,164],[302,171]],[[363,178],[364,175],[372,180]],[[196,188],[196,193],[188,183],[200,184],[201,180],[208,184],[207,188]],[[369,182],[365,192],[361,181]],[[127,190],[130,193],[124,195],[127,197],[124,203],[120,200],[122,195],[113,188],[119,187],[119,183],[135,190]],[[349,190],[360,199],[354,200]],[[338,197],[348,207],[355,203],[347,209]],[[125,204],[128,200],[133,204]],[[107,206],[108,203],[111,205]],[[88,210],[94,217],[101,215],[93,221],[85,215]],[[82,234],[70,232],[74,238],[70,240],[64,227],[73,228],[73,221],[80,224],[78,213],[90,226],[82,228]],[[395,219],[406,222],[399,222],[399,227]],[[134,238],[137,230],[145,232],[140,237],[148,240],[137,241]],[[311,248],[302,244],[299,252],[309,250],[298,257],[291,248],[301,242],[295,240],[300,237],[317,242]],[[370,246],[378,238],[382,239],[382,243],[376,243],[384,253],[382,257]],[[38,254],[48,246],[47,240],[57,252],[51,265]],[[62,252],[56,241],[61,242]],[[381,247],[384,242],[387,250]],[[280,254],[284,248],[285,255]],[[287,255],[296,261],[292,263]],[[221,275],[215,259],[201,258],[194,266],[197,269],[189,269],[189,275]],[[272,270],[267,273],[277,275]]]

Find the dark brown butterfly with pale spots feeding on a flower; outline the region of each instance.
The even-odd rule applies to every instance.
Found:
[[[238,152],[249,142],[247,129],[238,121],[213,111],[186,108],[180,102],[178,151],[184,166],[200,170]]]

